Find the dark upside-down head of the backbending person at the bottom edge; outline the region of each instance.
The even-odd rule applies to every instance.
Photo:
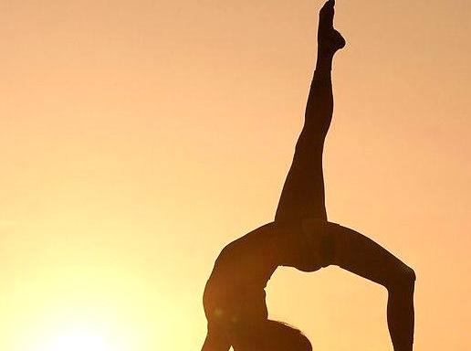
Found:
[[[309,339],[288,324],[266,320],[236,331],[235,351],[312,351]]]

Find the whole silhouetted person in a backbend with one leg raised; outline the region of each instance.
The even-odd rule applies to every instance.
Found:
[[[318,60],[305,122],[275,221],[225,247],[204,290],[208,332],[203,351],[309,351],[308,338],[268,319],[267,281],[277,266],[318,271],[336,265],[388,291],[387,321],[394,351],[413,349],[415,274],[360,233],[327,219],[322,150],[333,112],[332,58],[345,46],[333,28],[335,0],[319,13]]]

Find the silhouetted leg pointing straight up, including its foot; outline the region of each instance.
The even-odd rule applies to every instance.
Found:
[[[335,52],[345,46],[345,40],[333,28],[334,5],[333,0],[328,1],[319,13],[318,60],[304,126],[279,199],[277,223],[300,225],[304,218],[327,220],[322,152],[333,112],[330,70]]]

